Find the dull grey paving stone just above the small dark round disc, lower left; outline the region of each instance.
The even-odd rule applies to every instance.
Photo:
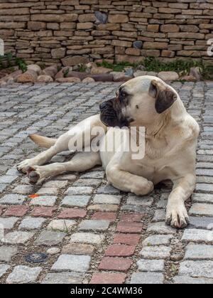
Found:
[[[53,246],[60,244],[66,233],[55,232],[53,230],[43,230],[35,240],[35,245]]]

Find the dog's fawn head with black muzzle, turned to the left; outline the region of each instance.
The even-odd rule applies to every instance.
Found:
[[[100,104],[101,120],[109,127],[151,124],[168,110],[177,93],[159,78],[144,75],[119,87],[116,97]]]

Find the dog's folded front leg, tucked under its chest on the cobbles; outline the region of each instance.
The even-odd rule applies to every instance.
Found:
[[[119,166],[108,165],[106,169],[107,180],[114,187],[121,191],[131,191],[138,196],[144,196],[153,191],[154,185],[152,181],[148,181],[141,176],[133,175],[127,171],[119,169]]]

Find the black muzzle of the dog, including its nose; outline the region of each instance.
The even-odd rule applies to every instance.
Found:
[[[99,105],[101,120],[108,127],[129,127],[129,122],[121,112],[121,102],[118,97],[102,102]]]

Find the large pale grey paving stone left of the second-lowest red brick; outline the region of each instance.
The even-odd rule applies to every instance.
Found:
[[[51,270],[86,272],[89,270],[90,260],[89,255],[60,255]]]

